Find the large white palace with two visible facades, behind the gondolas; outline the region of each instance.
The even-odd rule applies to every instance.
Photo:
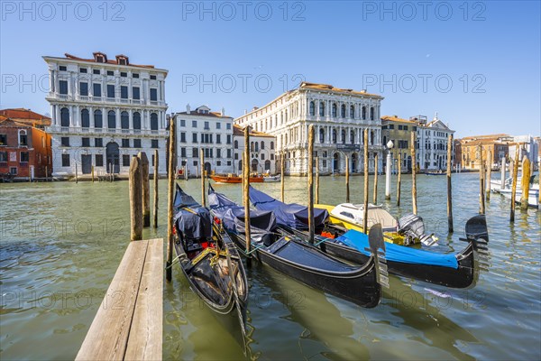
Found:
[[[281,162],[279,155],[285,155],[285,169],[290,175],[307,174],[308,125],[316,128],[314,151],[321,173],[344,172],[345,156],[350,158],[350,171],[362,171],[363,131],[368,129],[373,170],[374,155],[382,158],[381,99],[365,90],[303,82],[267,105],[254,107],[234,123],[275,136],[276,156]]]

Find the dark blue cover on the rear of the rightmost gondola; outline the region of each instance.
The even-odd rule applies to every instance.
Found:
[[[271,210],[279,225],[295,229],[308,228],[308,208],[297,203],[283,203],[278,199],[250,187],[250,201],[253,206],[261,210]],[[325,223],[329,217],[326,209],[314,209],[314,225],[316,227]]]

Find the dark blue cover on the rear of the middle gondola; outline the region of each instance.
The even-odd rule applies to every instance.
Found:
[[[212,188],[208,192],[208,205],[215,217],[219,218],[226,230],[244,234],[244,208],[225,195],[216,193]],[[259,242],[261,237],[272,232],[276,227],[276,218],[271,211],[250,209],[250,235],[252,241]]]

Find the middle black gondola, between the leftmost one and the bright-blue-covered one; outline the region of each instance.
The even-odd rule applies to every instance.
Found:
[[[212,187],[209,187],[208,203],[213,216],[220,220],[234,243],[245,250],[244,208]],[[375,257],[369,256],[360,266],[345,264],[309,245],[306,239],[300,239],[302,236],[277,228],[276,218],[270,211],[251,209],[250,229],[252,255],[261,263],[362,307],[372,308],[380,303],[381,285]]]

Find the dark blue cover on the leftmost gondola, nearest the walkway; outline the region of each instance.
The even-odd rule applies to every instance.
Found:
[[[208,209],[201,207],[196,199],[184,193],[177,185],[173,201],[174,224],[187,239],[212,236],[212,220]]]

